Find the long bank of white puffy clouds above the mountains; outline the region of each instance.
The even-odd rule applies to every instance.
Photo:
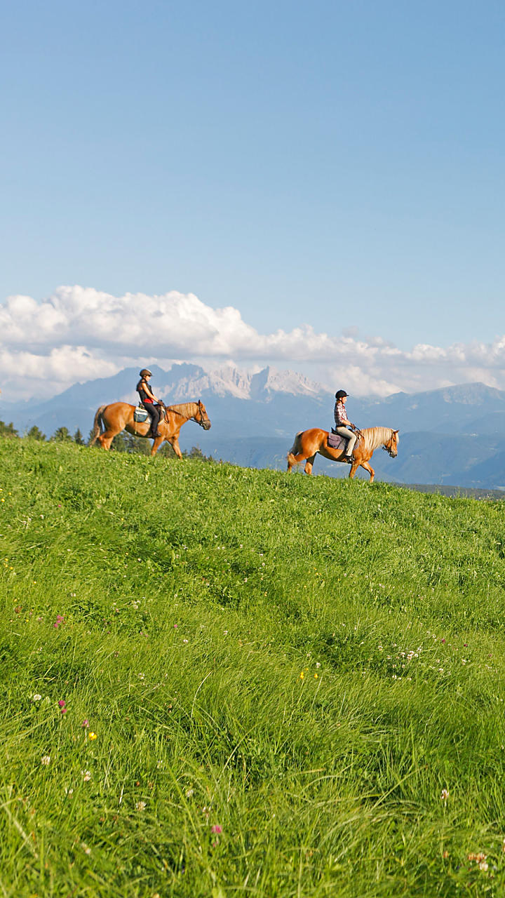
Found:
[[[146,321],[151,327],[146,328]],[[308,324],[261,334],[233,306],[213,309],[194,294],[113,296],[61,286],[42,302],[10,296],[0,305],[0,382],[4,399],[49,396],[76,381],[126,365],[174,359],[208,366],[234,359],[248,368],[276,364],[310,373],[355,395],[415,392],[482,381],[505,389],[505,336],[492,344],[422,344],[409,350],[349,328],[320,333]]]

